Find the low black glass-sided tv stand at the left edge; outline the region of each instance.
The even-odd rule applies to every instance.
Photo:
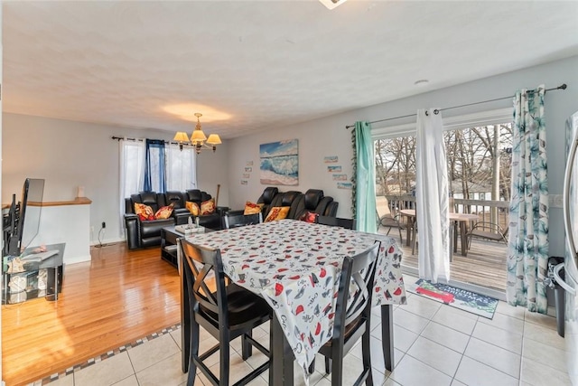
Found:
[[[47,250],[58,250],[59,253],[42,261],[24,261],[23,271],[8,273],[8,257],[3,264],[2,303],[22,303],[36,297],[52,301],[58,299],[62,291],[64,275],[63,256],[66,243],[47,245]],[[24,249],[22,256],[33,253],[33,249]],[[11,257],[10,257],[11,258]]]

